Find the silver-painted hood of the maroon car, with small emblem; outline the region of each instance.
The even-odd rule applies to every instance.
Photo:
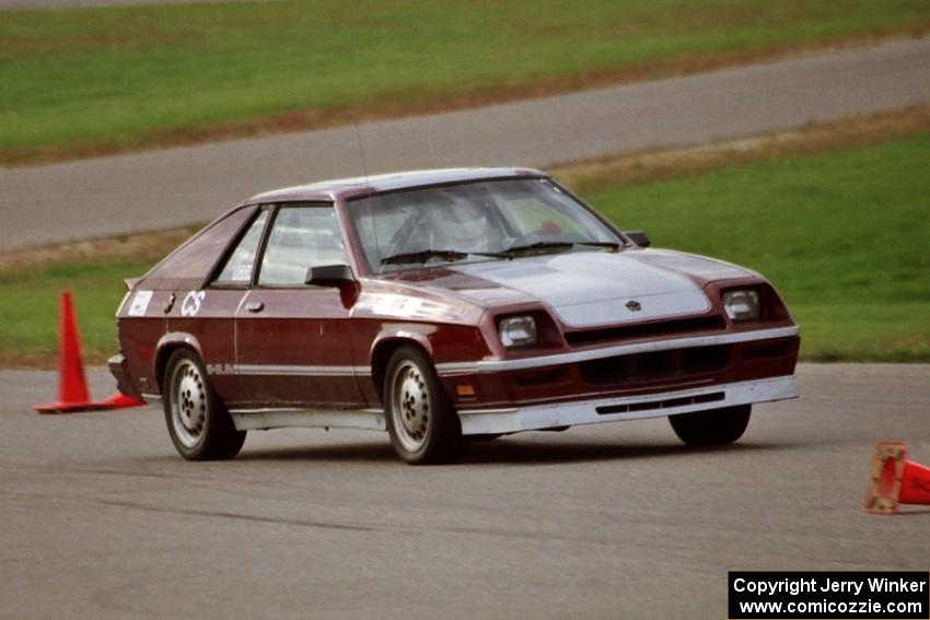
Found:
[[[725,262],[663,250],[576,251],[455,265],[447,271],[467,279],[445,277],[430,284],[485,306],[539,301],[570,327],[705,313],[710,302],[704,282],[752,274]]]

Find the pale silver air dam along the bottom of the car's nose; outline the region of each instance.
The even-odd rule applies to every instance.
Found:
[[[462,433],[516,433],[598,422],[675,416],[753,402],[798,398],[793,376],[770,377],[644,396],[596,398],[508,409],[460,410]]]

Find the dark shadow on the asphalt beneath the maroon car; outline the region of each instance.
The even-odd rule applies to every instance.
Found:
[[[558,465],[597,460],[640,458],[677,458],[698,453],[739,453],[790,449],[791,446],[765,443],[737,443],[714,448],[694,448],[682,444],[618,444],[578,441],[527,441],[502,438],[472,444],[461,464],[481,465]],[[236,460],[306,460],[306,461],[392,461],[400,463],[388,443],[353,443],[332,446],[246,449]]]

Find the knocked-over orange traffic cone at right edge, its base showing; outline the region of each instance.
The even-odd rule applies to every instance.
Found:
[[[872,455],[865,511],[890,515],[899,504],[930,505],[930,467],[907,460],[906,442],[879,442]]]

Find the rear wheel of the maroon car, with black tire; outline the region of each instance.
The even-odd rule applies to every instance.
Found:
[[[167,433],[187,460],[232,458],[245,431],[236,431],[200,359],[187,349],[172,353],[162,385]]]

